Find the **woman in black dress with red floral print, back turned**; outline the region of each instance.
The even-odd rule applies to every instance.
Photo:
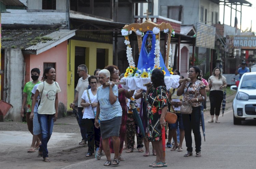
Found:
[[[150,164],[153,167],[166,167],[167,162],[162,149],[162,128],[166,126],[165,115],[168,109],[169,99],[164,81],[163,72],[155,69],[151,75],[153,87],[147,87],[148,110],[148,140],[152,142],[156,150],[156,161]]]

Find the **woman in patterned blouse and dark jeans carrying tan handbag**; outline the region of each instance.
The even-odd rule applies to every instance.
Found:
[[[207,96],[204,83],[198,80],[199,75],[200,69],[195,66],[191,67],[188,71],[190,81],[184,81],[177,90],[177,96],[183,94],[183,100],[187,101],[193,109],[191,114],[182,114],[187,147],[187,153],[184,157],[193,155],[191,130],[195,136],[196,157],[201,157],[200,108],[201,101],[206,100]]]

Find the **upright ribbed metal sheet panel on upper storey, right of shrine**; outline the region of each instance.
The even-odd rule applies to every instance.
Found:
[[[214,49],[216,28],[197,22],[196,46]]]

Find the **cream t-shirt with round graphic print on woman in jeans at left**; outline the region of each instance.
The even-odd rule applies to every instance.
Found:
[[[41,97],[38,114],[55,114],[55,96],[60,92],[59,84],[57,82],[49,84],[44,81],[38,85],[37,90]]]

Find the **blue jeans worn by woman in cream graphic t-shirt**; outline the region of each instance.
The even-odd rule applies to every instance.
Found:
[[[43,158],[48,157],[47,143],[53,133],[54,115],[55,114],[38,114],[42,134],[42,144],[39,151],[43,152]]]

